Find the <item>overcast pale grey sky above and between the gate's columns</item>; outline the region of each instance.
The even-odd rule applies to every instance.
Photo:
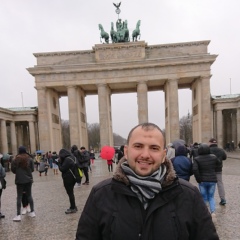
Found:
[[[0,107],[37,106],[33,53],[92,49],[100,43],[98,24],[110,30],[117,20],[110,0],[1,0]],[[219,55],[212,65],[211,94],[239,93],[239,0],[123,0],[123,20],[130,32],[141,20],[141,40],[153,44],[210,40],[209,53]],[[231,79],[231,80],[230,80]],[[23,97],[22,97],[23,96]],[[136,93],[112,95],[115,133],[127,137],[138,123]],[[23,101],[22,101],[23,100]],[[148,94],[149,121],[164,125],[164,94]],[[61,98],[68,119],[67,98]],[[87,96],[87,121],[99,122],[97,96]],[[191,91],[179,91],[180,117],[191,110]]]

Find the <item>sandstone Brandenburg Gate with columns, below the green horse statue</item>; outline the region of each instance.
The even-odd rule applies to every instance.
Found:
[[[62,147],[59,98],[68,97],[71,144],[88,146],[85,97],[98,95],[101,146],[113,146],[111,95],[137,93],[138,121],[148,121],[148,92],[164,91],[166,141],[179,138],[178,89],[192,91],[193,140],[213,136],[210,41],[96,44],[92,50],[35,53],[28,68],[38,95],[40,149]],[[159,99],[156,99],[156,112]],[[131,109],[129,109],[131,111]],[[131,121],[125,116],[125,120]],[[158,124],[158,123],[156,123]]]

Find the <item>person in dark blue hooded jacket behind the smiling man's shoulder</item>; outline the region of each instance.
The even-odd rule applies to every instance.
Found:
[[[192,161],[187,156],[185,146],[179,146],[176,149],[176,157],[172,158],[173,168],[179,178],[189,181],[192,172]]]

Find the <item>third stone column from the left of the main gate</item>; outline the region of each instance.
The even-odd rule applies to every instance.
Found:
[[[113,146],[110,91],[106,84],[98,85],[100,147]]]

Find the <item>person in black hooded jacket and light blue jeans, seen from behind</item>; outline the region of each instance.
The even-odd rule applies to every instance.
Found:
[[[201,143],[198,148],[198,156],[194,158],[193,174],[199,184],[199,190],[204,202],[209,203],[212,217],[215,217],[214,193],[216,189],[217,176],[215,169],[219,163],[217,157],[210,154],[210,147]]]

